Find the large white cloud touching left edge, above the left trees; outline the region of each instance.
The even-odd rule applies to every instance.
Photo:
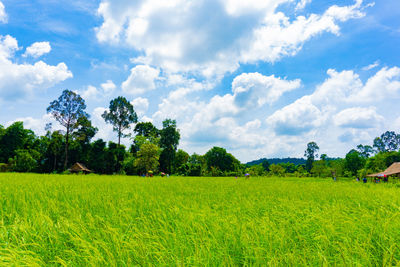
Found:
[[[0,36],[0,96],[4,99],[18,99],[52,87],[68,78],[72,73],[65,63],[56,66],[47,65],[43,61],[31,64],[12,62],[14,53],[18,51],[18,42],[7,35]]]

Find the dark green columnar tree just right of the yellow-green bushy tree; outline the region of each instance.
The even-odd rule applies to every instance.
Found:
[[[178,149],[181,135],[176,127],[176,121],[166,119],[160,131],[160,169],[166,173],[172,173],[172,165],[175,160],[175,152]]]

